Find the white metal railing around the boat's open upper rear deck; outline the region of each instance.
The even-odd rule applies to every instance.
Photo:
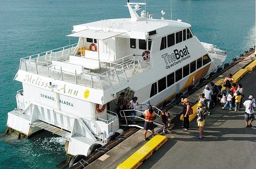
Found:
[[[67,81],[96,89],[113,88],[122,81],[150,69],[150,59],[144,60],[141,55],[130,54],[108,64],[101,62],[102,69],[76,70],[56,66],[53,61],[68,63],[69,56],[75,55],[76,44],[50,50],[20,59],[20,69],[37,75]],[[70,63],[71,64],[71,63]],[[104,69],[103,69],[104,68]]]

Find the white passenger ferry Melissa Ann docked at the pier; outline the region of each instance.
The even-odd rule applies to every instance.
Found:
[[[131,18],[74,25],[67,37],[77,44],[20,59],[14,79],[23,89],[7,128],[27,137],[51,131],[66,138],[67,154],[88,156],[120,131],[121,92],[128,101],[138,97],[139,116],[222,66],[226,52],[203,46],[181,20],[153,19],[145,10],[139,16],[144,5],[127,2]]]

